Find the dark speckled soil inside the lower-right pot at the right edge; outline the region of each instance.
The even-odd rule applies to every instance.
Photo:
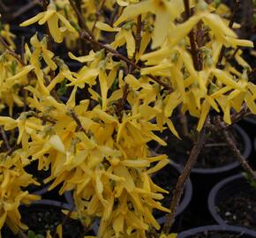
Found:
[[[256,189],[237,190],[218,206],[222,219],[230,225],[256,230]]]

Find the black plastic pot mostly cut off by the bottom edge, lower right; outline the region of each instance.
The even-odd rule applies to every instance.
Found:
[[[255,238],[256,232],[246,229],[244,227],[233,227],[233,226],[206,226],[196,227],[186,230],[177,235],[177,238],[192,238],[197,234],[207,234],[208,232],[226,232],[227,234],[237,234],[239,238]],[[208,238],[220,237],[220,236],[206,236]],[[224,236],[222,236],[224,237]]]

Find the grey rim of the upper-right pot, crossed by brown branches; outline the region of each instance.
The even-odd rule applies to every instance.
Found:
[[[237,124],[233,125],[234,129],[237,130],[238,134],[241,136],[243,140],[243,144],[245,145],[244,152],[242,153],[244,158],[247,159],[252,152],[252,142],[245,132],[244,129],[242,129],[240,126]],[[177,164],[176,162],[172,161],[174,164],[177,165],[177,167],[180,167],[181,169],[184,168],[183,165]],[[192,173],[195,174],[203,174],[203,175],[215,175],[215,174],[221,174],[224,172],[227,172],[229,170],[232,170],[236,167],[239,167],[239,162],[234,161],[228,165],[222,166],[222,167],[214,167],[214,168],[200,168],[200,167],[193,167],[192,168]]]

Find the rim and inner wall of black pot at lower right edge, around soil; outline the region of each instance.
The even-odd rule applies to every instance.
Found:
[[[221,205],[222,202],[226,201],[229,197],[234,196],[237,191],[250,192],[250,190],[252,190],[251,184],[245,179],[243,174],[230,176],[229,178],[222,180],[222,182],[217,183],[208,196],[208,209],[215,221],[218,224],[225,226],[225,219],[223,219],[222,216],[217,212],[219,205]]]

